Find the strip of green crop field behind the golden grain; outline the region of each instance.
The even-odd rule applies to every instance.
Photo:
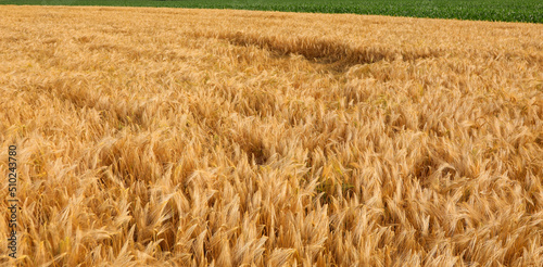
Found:
[[[543,23],[541,0],[0,0],[0,4],[273,10]]]

